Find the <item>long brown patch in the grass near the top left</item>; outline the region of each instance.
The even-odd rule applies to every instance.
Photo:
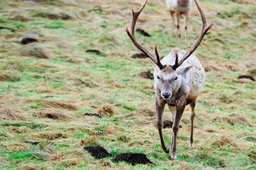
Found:
[[[42,17],[42,18],[48,18],[51,20],[70,20],[73,18],[70,15],[63,13],[63,12],[49,13],[49,12],[45,12],[45,11],[38,12],[35,15],[33,15],[33,17]]]

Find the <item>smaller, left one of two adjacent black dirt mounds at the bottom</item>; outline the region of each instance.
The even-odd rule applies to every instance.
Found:
[[[108,153],[103,147],[101,146],[85,146],[84,150],[91,153],[95,159],[102,159],[105,157],[111,157],[111,154]]]

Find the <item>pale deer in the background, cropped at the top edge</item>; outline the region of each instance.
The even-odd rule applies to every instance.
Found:
[[[166,0],[166,6],[170,11],[170,15],[172,16],[172,32],[171,37],[173,37],[173,27],[175,22],[175,15],[177,18],[177,41],[179,41],[179,37],[181,34],[180,29],[180,18],[184,15],[184,24],[185,24],[185,41],[188,43],[188,33],[187,33],[187,22],[188,22],[188,12],[191,8],[192,0]]]

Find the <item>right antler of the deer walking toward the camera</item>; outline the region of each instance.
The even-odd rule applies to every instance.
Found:
[[[172,68],[175,70],[177,69],[177,67],[179,67],[184,60],[188,59],[188,57],[195,52],[196,48],[200,45],[201,41],[204,39],[205,34],[207,33],[207,31],[209,31],[209,29],[211,29],[213,23],[211,22],[211,24],[207,27],[207,22],[206,22],[206,18],[204,15],[204,11],[202,10],[202,8],[200,7],[200,5],[197,3],[197,1],[195,0],[196,6],[200,12],[200,15],[202,17],[202,22],[203,22],[203,27],[202,27],[202,31],[200,36],[198,37],[198,39],[196,40],[195,44],[189,49],[189,51],[187,53],[185,53],[185,55],[182,57],[182,59],[179,60],[178,64],[175,64],[172,66]],[[177,62],[177,61],[176,61]]]

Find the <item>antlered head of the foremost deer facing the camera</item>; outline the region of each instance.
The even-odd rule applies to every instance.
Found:
[[[134,11],[132,8],[131,31],[129,31],[128,27],[127,27],[126,32],[127,32],[128,36],[131,38],[132,43],[134,43],[134,45],[139,50],[141,50],[141,52],[145,53],[145,55],[147,55],[147,57],[150,58],[150,60],[152,60],[152,66],[154,67],[154,70],[156,73],[156,74],[154,74],[155,85],[157,85],[157,87],[155,87],[155,88],[158,88],[160,90],[161,97],[163,97],[163,99],[168,100],[168,99],[170,99],[170,97],[172,97],[173,90],[176,89],[176,87],[179,86],[181,83],[180,75],[188,73],[189,69],[191,69],[191,67],[192,67],[192,66],[180,67],[180,65],[186,59],[188,59],[188,57],[200,45],[202,39],[204,39],[204,36],[207,33],[207,31],[209,31],[209,29],[211,29],[213,23],[211,22],[211,24],[207,27],[207,22],[206,22],[204,12],[202,11],[202,8],[199,6],[197,1],[195,0],[195,4],[196,4],[198,10],[200,11],[200,15],[202,17],[203,26],[202,26],[201,34],[198,37],[198,39],[196,40],[195,44],[188,50],[188,52],[186,52],[184,54],[184,56],[181,57],[180,60],[178,57],[178,50],[177,49],[173,50],[175,52],[175,56],[176,56],[175,64],[173,64],[172,66],[165,66],[161,63],[159,53],[157,52],[157,46],[155,46],[156,57],[154,57],[154,55],[152,53],[150,53],[143,45],[140,44],[140,42],[138,42],[136,40],[135,35],[134,35],[134,28],[135,28],[137,19],[146,4],[147,4],[147,0],[143,4],[143,6],[141,6],[140,10],[138,10],[138,11]]]

